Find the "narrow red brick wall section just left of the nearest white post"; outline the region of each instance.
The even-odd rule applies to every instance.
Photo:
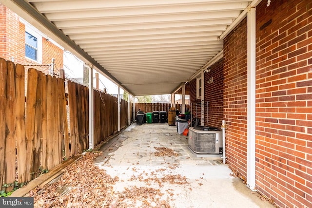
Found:
[[[247,177],[247,18],[224,38],[223,111],[227,163]]]

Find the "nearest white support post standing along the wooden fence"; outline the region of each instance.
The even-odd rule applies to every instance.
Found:
[[[94,149],[93,65],[89,67],[89,150]]]

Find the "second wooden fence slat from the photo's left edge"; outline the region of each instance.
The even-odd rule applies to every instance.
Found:
[[[15,64],[7,61],[7,103],[5,111],[6,138],[5,138],[5,162],[4,183],[15,181],[15,153],[16,153],[16,94],[15,94]],[[12,190],[8,187],[6,191]]]

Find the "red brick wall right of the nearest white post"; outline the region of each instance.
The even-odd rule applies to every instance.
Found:
[[[262,1],[256,19],[256,188],[310,208],[312,1]]]

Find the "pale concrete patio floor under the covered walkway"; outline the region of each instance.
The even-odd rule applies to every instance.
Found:
[[[178,156],[155,156],[155,147],[174,150]],[[198,157],[188,149],[188,138],[168,124],[130,125],[103,145],[95,164],[119,181],[114,192],[133,186],[160,189],[173,208],[270,208],[259,194],[234,177],[219,155]],[[210,157],[207,157],[210,156]],[[153,183],[148,178],[185,176],[185,184]],[[138,204],[137,207],[140,207]]]

